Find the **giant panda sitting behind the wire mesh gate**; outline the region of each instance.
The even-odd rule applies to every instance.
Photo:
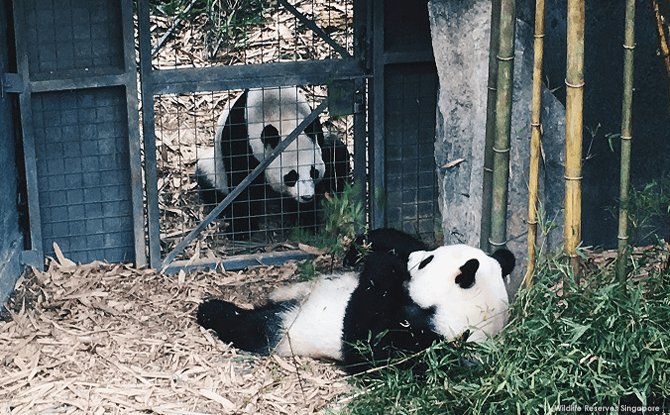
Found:
[[[203,203],[221,202],[311,111],[295,86],[245,90],[221,114],[214,147],[196,163]],[[331,152],[331,148],[337,150]],[[337,168],[341,171],[340,158],[346,157],[349,163],[343,148],[346,151],[336,138],[326,140],[321,123],[314,120],[226,209],[230,233],[244,237],[257,229],[265,201],[273,198],[281,198],[282,207],[290,213],[302,212],[303,225],[313,227],[318,193],[333,190],[329,175]],[[324,156],[331,154],[325,163]]]

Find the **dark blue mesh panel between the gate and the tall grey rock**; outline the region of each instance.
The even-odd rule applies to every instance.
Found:
[[[441,242],[434,158],[438,79],[427,0],[373,1],[373,227]]]

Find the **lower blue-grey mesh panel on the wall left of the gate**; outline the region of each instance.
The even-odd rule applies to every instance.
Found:
[[[32,98],[45,252],[74,261],[134,258],[125,93],[121,88]]]

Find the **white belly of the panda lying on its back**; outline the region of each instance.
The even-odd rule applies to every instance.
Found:
[[[341,360],[344,313],[357,285],[355,272],[319,278],[302,306],[282,316],[286,335],[275,352]]]

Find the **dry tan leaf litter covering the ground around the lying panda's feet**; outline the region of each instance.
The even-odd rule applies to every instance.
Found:
[[[29,270],[0,321],[0,414],[336,411],[351,387],[334,364],[246,354],[195,321],[203,297],[251,306],[297,269],[168,276],[60,257]]]

